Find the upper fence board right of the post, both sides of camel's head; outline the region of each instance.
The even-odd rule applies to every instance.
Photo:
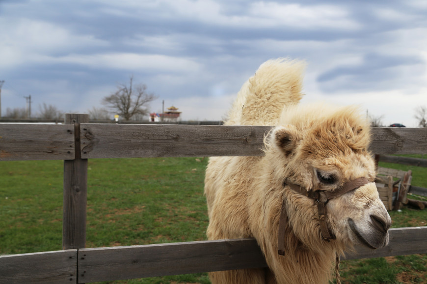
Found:
[[[82,158],[261,156],[271,126],[82,124]],[[427,128],[373,128],[375,154],[427,153]]]

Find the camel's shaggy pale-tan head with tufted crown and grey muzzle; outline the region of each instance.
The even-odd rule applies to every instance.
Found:
[[[286,186],[334,192],[349,181],[365,177],[366,183],[326,203],[326,224],[345,249],[362,244],[376,249],[387,245],[391,218],[375,187],[375,166],[368,151],[370,125],[355,107],[325,105],[291,106],[284,109],[273,129],[266,157],[282,186],[289,224],[307,247],[327,243],[322,237],[316,200]],[[279,158],[277,158],[279,157]]]

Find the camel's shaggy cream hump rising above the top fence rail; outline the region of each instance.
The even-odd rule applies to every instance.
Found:
[[[226,125],[277,125],[284,107],[302,98],[305,62],[268,60],[241,87]]]

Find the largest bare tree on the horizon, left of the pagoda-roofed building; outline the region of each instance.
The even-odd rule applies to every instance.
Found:
[[[147,93],[145,84],[133,86],[133,76],[131,76],[129,85],[120,84],[117,86],[117,91],[104,97],[103,103],[125,120],[130,120],[134,115],[147,115],[147,104],[156,98],[156,95]]]

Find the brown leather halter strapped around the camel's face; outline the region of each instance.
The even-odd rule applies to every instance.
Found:
[[[365,184],[368,184],[369,181],[365,177],[359,177],[357,179],[347,181],[341,188],[333,191],[325,190],[306,190],[299,185],[293,183],[284,182],[284,186],[289,186],[292,190],[307,196],[317,202],[317,208],[319,211],[319,226],[321,236],[324,240],[335,239],[335,235],[331,232],[327,225],[327,215],[326,215],[326,204],[330,199],[339,197],[347,192],[350,192],[354,189],[357,189]],[[280,220],[279,220],[279,244],[278,244],[278,254],[285,255],[285,230],[286,223],[288,222],[288,214],[286,213],[286,201],[285,198],[282,200],[282,209],[280,211]]]

